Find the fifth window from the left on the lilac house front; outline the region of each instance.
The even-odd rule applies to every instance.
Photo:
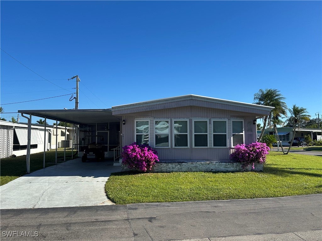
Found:
[[[227,147],[227,120],[213,121],[213,147]]]

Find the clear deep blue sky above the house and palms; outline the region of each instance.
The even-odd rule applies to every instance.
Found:
[[[1,49],[55,84],[1,51],[5,112],[74,108],[70,95],[3,104],[71,94],[67,79],[78,75],[80,109],[184,94],[252,103],[259,89],[274,88],[289,107],[321,116],[321,1],[0,5]]]

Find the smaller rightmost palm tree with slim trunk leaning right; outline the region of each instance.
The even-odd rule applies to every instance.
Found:
[[[296,127],[300,122],[303,121],[309,121],[310,115],[308,114],[308,111],[306,108],[298,107],[296,105],[293,105],[292,109],[289,109],[289,112],[291,113],[290,117],[285,121],[285,123],[290,122],[293,124],[293,137],[289,144],[289,149],[287,150],[286,154],[289,154],[289,150],[291,149],[291,146],[294,141]]]

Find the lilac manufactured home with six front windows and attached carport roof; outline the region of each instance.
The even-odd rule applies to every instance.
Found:
[[[160,161],[178,162],[229,161],[235,145],[257,140],[256,120],[272,109],[190,94],[110,109],[18,112],[77,124],[73,145],[80,156],[99,135],[106,157],[118,158],[122,147],[136,142],[155,148]]]

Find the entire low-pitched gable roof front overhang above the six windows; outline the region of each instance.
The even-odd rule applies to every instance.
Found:
[[[224,100],[200,95],[181,95],[170,98],[156,99],[132,104],[112,106],[113,115],[144,112],[151,110],[176,108],[182,106],[200,106],[214,109],[226,109],[241,112],[251,112],[258,115],[269,115],[274,107],[250,104],[238,101]]]

